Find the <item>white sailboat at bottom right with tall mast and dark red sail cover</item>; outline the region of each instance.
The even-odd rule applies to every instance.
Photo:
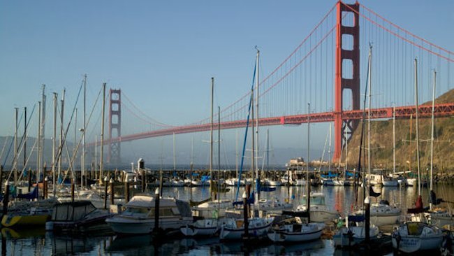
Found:
[[[418,164],[418,198],[416,208],[409,209],[409,213],[424,211],[421,198],[421,183],[419,169],[419,127],[418,127],[418,61],[415,59],[415,101],[416,101],[416,158]],[[443,242],[443,232],[434,225],[423,222],[406,222],[393,232],[393,248],[404,253],[415,253],[419,250],[434,250],[440,248]]]

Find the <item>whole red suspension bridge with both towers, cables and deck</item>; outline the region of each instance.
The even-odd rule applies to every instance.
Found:
[[[371,112],[372,118],[392,118],[393,106],[396,106],[396,118],[409,118],[415,114],[412,105],[415,58],[418,59],[420,100],[432,98],[434,70],[437,71],[437,94],[452,89],[453,52],[412,34],[360,3],[339,1],[288,57],[260,80],[258,124],[305,123],[308,120],[305,106],[310,102],[314,108],[309,115],[310,122],[334,122],[333,158],[339,159],[345,143],[344,132],[351,136],[363,118],[360,93],[366,86],[369,45],[373,46],[374,56],[371,74],[374,101],[367,111]],[[245,127],[249,99],[250,92],[221,111],[221,129]],[[124,115],[125,111],[127,115]],[[421,117],[429,117],[432,106],[420,106],[419,113]],[[435,115],[454,115],[454,102],[437,104]],[[122,134],[122,121],[129,117],[135,119],[136,131]],[[121,90],[110,90],[108,129],[105,143],[110,145],[109,159],[117,162],[122,142],[207,131],[210,130],[210,119],[191,125],[166,125],[149,118]]]

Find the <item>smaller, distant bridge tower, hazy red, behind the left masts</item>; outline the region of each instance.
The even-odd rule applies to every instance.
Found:
[[[108,162],[111,164],[121,163],[120,141],[112,142],[112,138],[120,136],[122,136],[122,90],[110,89]]]

